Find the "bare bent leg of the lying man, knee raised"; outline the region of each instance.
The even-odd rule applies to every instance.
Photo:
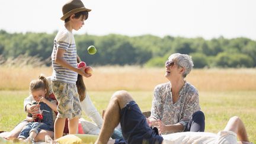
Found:
[[[100,135],[95,143],[108,143],[114,128],[120,122],[120,110],[130,101],[133,99],[127,91],[117,91],[113,94],[104,114],[103,127],[101,127]]]

